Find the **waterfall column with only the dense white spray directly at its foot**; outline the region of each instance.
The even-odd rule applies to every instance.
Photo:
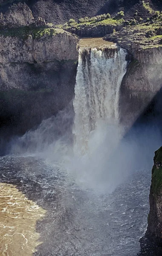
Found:
[[[126,51],[80,49],[73,101],[74,160],[70,169],[83,186],[108,189],[121,182],[112,156],[121,139],[119,91],[126,73]]]

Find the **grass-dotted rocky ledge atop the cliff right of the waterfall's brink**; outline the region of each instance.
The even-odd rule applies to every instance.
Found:
[[[127,26],[119,32],[105,37],[114,41],[133,55],[143,64],[162,64],[162,45],[160,23],[153,25],[145,23],[136,26]],[[148,37],[150,33],[150,37]]]

